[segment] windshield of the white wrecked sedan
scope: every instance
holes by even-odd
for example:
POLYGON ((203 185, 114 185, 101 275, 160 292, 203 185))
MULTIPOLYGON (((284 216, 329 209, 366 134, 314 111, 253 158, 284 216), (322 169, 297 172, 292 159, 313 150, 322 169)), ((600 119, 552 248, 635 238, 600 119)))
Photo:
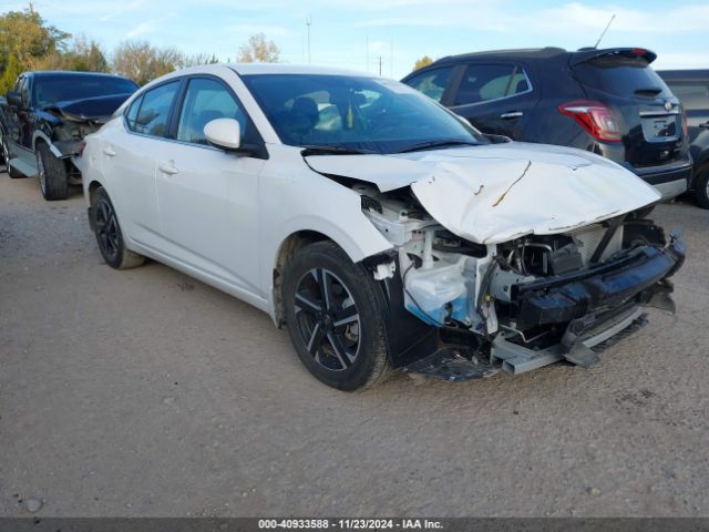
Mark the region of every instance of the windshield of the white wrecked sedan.
POLYGON ((281 142, 291 146, 397 153, 486 143, 462 119, 397 81, 314 74, 243 80, 281 142))

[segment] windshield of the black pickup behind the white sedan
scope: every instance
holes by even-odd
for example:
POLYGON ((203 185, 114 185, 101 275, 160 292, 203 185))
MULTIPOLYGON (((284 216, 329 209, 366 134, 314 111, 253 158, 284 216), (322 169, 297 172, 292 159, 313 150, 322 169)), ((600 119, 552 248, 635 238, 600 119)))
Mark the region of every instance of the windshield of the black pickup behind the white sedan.
POLYGON ((37 78, 34 98, 39 106, 88 98, 132 94, 137 85, 112 75, 52 75, 37 78))

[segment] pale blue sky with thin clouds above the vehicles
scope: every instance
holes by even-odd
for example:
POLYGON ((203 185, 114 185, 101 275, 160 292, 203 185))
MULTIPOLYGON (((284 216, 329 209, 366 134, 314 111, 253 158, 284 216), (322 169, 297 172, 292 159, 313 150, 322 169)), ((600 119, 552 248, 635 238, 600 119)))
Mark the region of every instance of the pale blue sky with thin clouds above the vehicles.
MULTIPOLYGON (((649 48, 656 68, 709 68, 709 2, 620 3, 538 0, 37 0, 54 25, 83 33, 111 50, 123 40, 148 40, 188 53, 237 54, 264 32, 289 63, 311 61, 401 78, 417 58, 501 48, 593 45, 612 14, 603 45, 649 48)), ((0 11, 22 9, 0 0, 0 11)))

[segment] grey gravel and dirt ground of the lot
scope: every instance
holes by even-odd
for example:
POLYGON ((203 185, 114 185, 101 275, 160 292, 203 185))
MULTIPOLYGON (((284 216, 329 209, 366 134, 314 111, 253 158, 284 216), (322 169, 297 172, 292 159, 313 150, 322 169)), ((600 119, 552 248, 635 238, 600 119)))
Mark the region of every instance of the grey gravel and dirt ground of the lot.
POLYGON ((348 395, 265 314, 105 266, 79 191, 0 174, 0 513, 709 515, 709 212, 655 217, 679 311, 599 365, 348 395))

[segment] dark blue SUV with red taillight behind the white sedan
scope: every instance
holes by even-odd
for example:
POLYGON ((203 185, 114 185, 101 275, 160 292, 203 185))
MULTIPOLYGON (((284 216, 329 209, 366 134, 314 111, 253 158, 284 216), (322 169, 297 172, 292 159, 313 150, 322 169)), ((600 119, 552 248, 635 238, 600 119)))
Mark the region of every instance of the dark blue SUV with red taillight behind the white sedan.
POLYGON ((402 81, 485 133, 604 155, 655 185, 687 190, 681 105, 637 48, 504 50, 443 58, 402 81))

